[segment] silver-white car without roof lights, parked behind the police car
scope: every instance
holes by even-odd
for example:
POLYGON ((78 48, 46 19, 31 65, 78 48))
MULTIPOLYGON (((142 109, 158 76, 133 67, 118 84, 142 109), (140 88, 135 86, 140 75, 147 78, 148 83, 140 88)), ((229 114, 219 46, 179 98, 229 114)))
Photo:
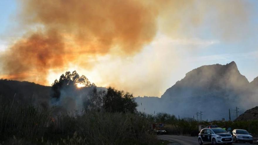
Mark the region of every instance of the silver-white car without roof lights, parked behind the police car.
POLYGON ((235 142, 242 141, 242 142, 249 142, 250 144, 253 143, 253 137, 249 132, 243 129, 234 129, 233 131, 233 139, 235 142))

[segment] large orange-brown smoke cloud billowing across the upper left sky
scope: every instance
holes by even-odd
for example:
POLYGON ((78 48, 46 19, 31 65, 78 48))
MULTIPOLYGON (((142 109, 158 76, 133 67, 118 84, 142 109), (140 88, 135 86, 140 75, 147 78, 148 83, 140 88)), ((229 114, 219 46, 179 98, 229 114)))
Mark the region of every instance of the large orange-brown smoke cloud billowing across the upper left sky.
POLYGON ((24 0, 20 4, 24 28, 40 25, 41 30, 28 33, 1 56, 7 78, 46 84, 48 70, 63 68, 81 54, 103 55, 112 47, 134 54, 156 34, 157 11, 139 1, 24 0))

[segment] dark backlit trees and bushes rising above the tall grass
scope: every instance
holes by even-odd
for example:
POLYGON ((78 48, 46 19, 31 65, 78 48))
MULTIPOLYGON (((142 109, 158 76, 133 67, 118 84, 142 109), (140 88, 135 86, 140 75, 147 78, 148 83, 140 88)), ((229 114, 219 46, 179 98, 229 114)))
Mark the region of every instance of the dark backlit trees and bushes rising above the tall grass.
POLYGON ((52 98, 60 98, 62 95, 72 98, 82 98, 83 105, 86 111, 106 111, 106 112, 136 112, 137 103, 134 100, 133 94, 117 90, 112 87, 97 90, 94 83, 91 83, 86 76, 79 74, 76 71, 72 73, 67 71, 60 76, 59 80, 55 80, 51 88, 52 98), (85 87, 93 87, 91 92, 85 89, 77 89, 77 85, 85 87))

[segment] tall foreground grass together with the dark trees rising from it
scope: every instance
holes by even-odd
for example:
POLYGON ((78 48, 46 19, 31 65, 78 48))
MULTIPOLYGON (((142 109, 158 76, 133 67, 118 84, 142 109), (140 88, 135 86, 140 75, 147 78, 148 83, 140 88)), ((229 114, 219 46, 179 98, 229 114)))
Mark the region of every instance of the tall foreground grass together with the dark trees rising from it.
MULTIPOLYGON (((58 101, 62 92, 76 92, 78 83, 95 87, 76 71, 67 72, 53 83, 52 98, 58 101)), ((95 87, 82 99, 83 109, 73 112, 19 102, 15 95, 0 99, 1 145, 160 143, 149 132, 151 122, 146 115, 137 112, 133 95, 115 88, 97 91, 95 87)))

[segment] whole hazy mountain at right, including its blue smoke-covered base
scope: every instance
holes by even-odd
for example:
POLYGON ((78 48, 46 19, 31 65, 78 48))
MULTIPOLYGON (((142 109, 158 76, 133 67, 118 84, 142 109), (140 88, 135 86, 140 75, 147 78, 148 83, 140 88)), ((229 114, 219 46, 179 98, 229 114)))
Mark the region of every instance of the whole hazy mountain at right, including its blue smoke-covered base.
MULTIPOLYGON (((228 109, 231 109, 232 119, 235 119, 236 106, 240 108, 241 114, 258 105, 257 86, 253 85, 255 81, 249 83, 240 74, 235 62, 201 66, 188 72, 184 79, 168 88, 161 98, 153 101, 147 97, 136 100, 139 105, 143 103, 142 107, 147 113, 156 111, 196 117, 196 112, 202 111, 203 120, 220 120, 228 119, 228 109)), ((142 107, 138 109, 142 110, 142 107)))

